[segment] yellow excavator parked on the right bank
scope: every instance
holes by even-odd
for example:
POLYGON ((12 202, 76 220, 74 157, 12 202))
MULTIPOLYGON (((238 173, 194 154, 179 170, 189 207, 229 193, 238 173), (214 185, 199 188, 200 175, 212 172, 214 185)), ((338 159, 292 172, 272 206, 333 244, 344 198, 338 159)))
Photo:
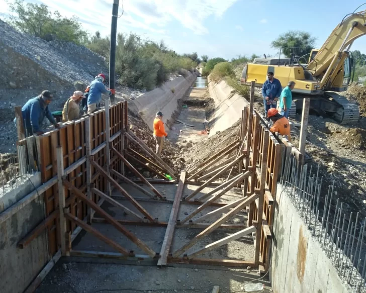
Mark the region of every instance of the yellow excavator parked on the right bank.
POLYGON ((291 56, 281 58, 281 48, 278 58, 255 58, 245 65, 240 83, 254 80, 256 86, 262 86, 267 72, 273 72, 283 87, 291 80, 296 82, 290 117, 302 108, 304 98, 310 98, 311 109, 325 112, 341 124, 355 124, 359 119, 358 106, 337 92, 347 90, 353 80, 354 63, 349 50, 354 40, 365 34, 366 10, 348 14, 320 49, 299 57, 299 49, 290 48, 291 56))

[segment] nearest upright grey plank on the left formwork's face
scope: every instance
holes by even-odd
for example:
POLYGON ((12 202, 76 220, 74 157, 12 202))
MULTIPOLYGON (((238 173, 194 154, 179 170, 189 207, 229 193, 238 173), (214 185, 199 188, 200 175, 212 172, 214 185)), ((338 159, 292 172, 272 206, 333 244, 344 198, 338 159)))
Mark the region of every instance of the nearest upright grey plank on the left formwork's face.
POLYGON ((64 217, 63 210, 65 208, 65 188, 62 184, 63 177, 63 153, 62 146, 57 147, 57 177, 58 177, 58 208, 60 217, 60 239, 61 239, 61 253, 67 255, 66 251, 66 219, 64 217))

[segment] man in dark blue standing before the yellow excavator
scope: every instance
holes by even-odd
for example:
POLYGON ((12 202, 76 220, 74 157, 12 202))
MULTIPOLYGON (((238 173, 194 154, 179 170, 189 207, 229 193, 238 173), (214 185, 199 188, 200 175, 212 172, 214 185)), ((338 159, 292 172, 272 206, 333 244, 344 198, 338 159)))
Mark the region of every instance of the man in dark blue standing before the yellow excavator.
POLYGON ((264 104, 264 116, 267 115, 267 111, 271 108, 277 107, 277 100, 281 95, 282 86, 280 80, 274 78, 273 72, 267 73, 267 80, 264 81, 262 86, 263 104, 264 104))

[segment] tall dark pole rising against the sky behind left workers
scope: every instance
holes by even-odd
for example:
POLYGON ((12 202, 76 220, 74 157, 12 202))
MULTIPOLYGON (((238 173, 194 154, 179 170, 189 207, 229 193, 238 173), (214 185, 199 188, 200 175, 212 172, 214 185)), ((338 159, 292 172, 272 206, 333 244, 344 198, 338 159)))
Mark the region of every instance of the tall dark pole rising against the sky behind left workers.
MULTIPOLYGON (((118 20, 118 6, 120 1, 113 0, 112 9, 112 25, 111 25, 111 48, 109 54, 109 88, 116 88, 116 40, 117 40, 117 20, 118 20)), ((115 95, 111 95, 111 101, 114 101, 115 95)))

